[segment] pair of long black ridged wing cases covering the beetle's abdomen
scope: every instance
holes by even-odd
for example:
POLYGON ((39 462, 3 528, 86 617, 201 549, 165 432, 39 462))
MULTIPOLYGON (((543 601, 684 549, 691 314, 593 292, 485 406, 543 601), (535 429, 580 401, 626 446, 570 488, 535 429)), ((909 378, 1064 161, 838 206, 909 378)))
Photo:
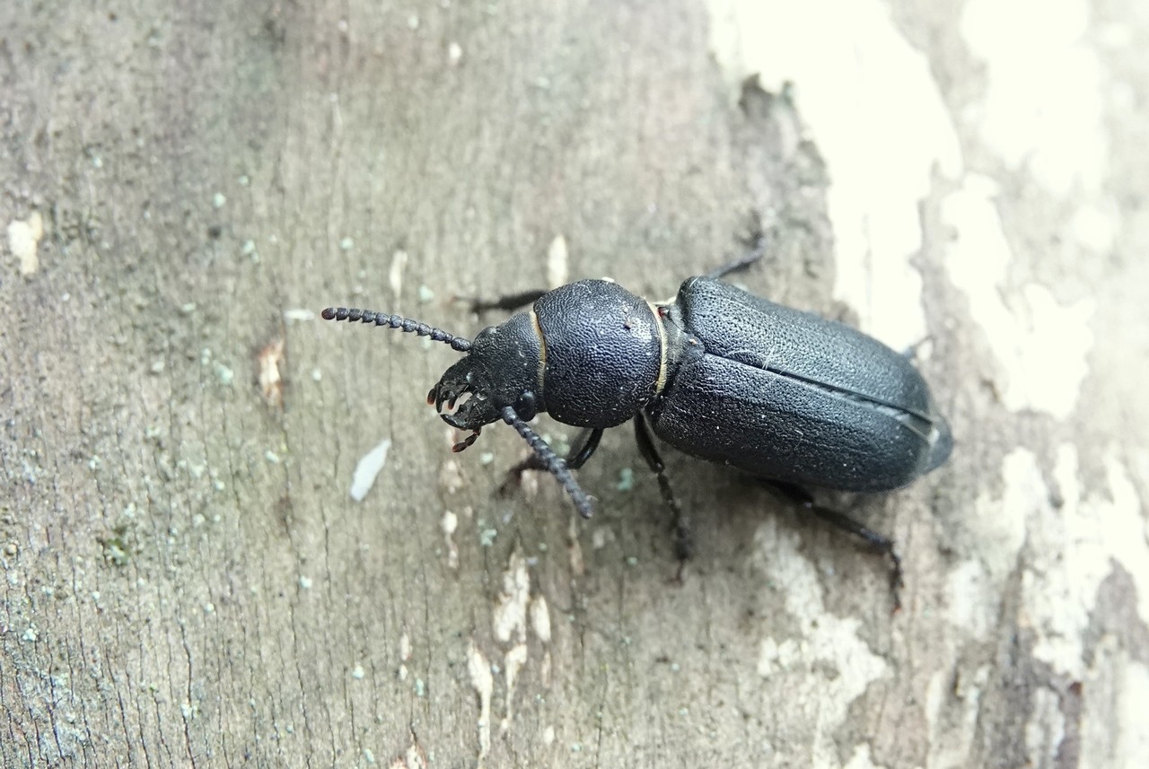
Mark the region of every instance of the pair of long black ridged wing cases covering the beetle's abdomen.
POLYGON ((753 475, 885 491, 949 455, 921 375, 877 340, 709 278, 683 283, 668 323, 683 351, 651 427, 753 475))

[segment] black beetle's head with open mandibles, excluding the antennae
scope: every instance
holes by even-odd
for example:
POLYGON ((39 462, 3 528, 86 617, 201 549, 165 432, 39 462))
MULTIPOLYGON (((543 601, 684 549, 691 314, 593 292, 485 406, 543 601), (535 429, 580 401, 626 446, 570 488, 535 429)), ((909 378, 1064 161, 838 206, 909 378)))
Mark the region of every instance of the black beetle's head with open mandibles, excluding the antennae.
POLYGON ((464 430, 478 430, 501 419, 506 406, 515 409, 524 420, 534 419, 540 410, 534 395, 540 356, 534 321, 527 313, 516 314, 475 337, 466 357, 431 388, 427 404, 448 425, 464 430), (470 397, 455 409, 464 395, 470 397))

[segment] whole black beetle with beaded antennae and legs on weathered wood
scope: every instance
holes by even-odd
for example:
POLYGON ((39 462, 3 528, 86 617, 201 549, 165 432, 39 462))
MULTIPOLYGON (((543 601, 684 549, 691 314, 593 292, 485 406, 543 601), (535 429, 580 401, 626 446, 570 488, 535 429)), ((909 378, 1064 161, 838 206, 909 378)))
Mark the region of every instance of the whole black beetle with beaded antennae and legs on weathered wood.
POLYGON ((635 438, 674 513, 677 552, 688 557, 688 522, 671 492, 651 432, 688 455, 732 465, 893 560, 893 542, 816 505, 807 487, 888 491, 946 461, 953 436, 910 360, 849 326, 748 294, 720 278, 762 256, 689 278, 668 303, 607 280, 526 292, 475 309, 531 304, 475 341, 399 316, 327 308, 327 320, 360 320, 444 342, 466 356, 431 388, 427 403, 471 435, 500 419, 533 455, 512 468, 553 474, 584 518, 591 499, 571 469, 602 432, 634 421, 635 438), (455 409, 456 402, 469 395, 455 409), (444 411, 446 407, 446 412, 444 411), (527 426, 535 414, 583 428, 564 459, 527 426))

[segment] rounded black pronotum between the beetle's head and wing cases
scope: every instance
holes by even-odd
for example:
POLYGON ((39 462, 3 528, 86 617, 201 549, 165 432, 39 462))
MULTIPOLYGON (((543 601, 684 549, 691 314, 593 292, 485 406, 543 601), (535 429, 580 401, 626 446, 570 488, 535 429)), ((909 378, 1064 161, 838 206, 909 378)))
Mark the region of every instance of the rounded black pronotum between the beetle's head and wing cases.
POLYGON ((534 312, 552 417, 576 427, 616 427, 654 397, 662 329, 645 300, 607 280, 580 280, 545 294, 534 312))

